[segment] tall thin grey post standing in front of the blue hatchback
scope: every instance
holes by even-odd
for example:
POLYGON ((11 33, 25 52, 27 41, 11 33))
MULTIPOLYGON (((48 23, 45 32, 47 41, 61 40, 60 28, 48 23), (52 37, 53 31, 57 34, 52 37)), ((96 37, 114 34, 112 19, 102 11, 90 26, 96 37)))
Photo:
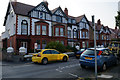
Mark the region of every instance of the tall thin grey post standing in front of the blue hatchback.
POLYGON ((94 15, 92 16, 92 26, 94 27, 95 79, 97 80, 96 29, 95 29, 95 20, 94 20, 94 15))

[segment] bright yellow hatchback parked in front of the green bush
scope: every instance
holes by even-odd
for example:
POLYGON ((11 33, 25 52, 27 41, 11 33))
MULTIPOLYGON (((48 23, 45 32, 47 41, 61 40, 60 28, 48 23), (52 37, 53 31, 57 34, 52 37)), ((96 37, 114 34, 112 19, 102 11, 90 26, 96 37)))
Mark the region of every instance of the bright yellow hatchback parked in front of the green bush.
POLYGON ((33 54, 32 62, 47 64, 48 61, 64 61, 69 59, 67 54, 62 54, 55 49, 42 49, 37 54, 33 54))

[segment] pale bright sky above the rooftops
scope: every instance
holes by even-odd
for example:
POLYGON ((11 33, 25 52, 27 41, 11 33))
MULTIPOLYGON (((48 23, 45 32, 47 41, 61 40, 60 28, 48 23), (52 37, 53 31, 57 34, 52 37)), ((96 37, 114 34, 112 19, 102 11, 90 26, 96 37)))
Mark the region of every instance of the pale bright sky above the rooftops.
MULTIPOLYGON (((17 0, 17 2, 37 6, 43 0, 17 0)), ((101 20, 101 24, 110 28, 115 28, 115 16, 117 16, 118 2, 120 0, 47 0, 49 9, 52 10, 58 6, 68 8, 68 14, 71 16, 80 16, 85 14, 91 21, 91 16, 95 16, 95 21, 101 20)), ((7 11, 9 0, 0 0, 0 35, 5 31, 4 17, 7 11)))

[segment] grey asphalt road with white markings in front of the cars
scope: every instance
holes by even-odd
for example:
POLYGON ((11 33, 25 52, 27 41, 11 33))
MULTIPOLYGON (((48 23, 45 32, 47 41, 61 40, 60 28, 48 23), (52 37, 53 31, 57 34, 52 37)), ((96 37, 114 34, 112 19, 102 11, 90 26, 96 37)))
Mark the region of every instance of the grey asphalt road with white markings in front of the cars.
MULTIPOLYGON (((68 62, 51 62, 47 65, 27 63, 7 63, 2 65, 2 78, 94 78, 93 69, 82 69, 79 59, 71 57, 68 62)), ((119 78, 120 65, 99 72, 100 78, 119 78)))

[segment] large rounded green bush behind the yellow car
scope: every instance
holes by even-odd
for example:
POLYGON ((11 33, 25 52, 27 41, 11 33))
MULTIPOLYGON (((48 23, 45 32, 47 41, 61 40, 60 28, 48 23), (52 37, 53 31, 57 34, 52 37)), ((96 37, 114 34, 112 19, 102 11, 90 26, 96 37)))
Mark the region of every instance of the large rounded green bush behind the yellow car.
POLYGON ((46 47, 46 49, 56 49, 61 53, 64 53, 66 51, 65 46, 59 42, 49 42, 46 47))

